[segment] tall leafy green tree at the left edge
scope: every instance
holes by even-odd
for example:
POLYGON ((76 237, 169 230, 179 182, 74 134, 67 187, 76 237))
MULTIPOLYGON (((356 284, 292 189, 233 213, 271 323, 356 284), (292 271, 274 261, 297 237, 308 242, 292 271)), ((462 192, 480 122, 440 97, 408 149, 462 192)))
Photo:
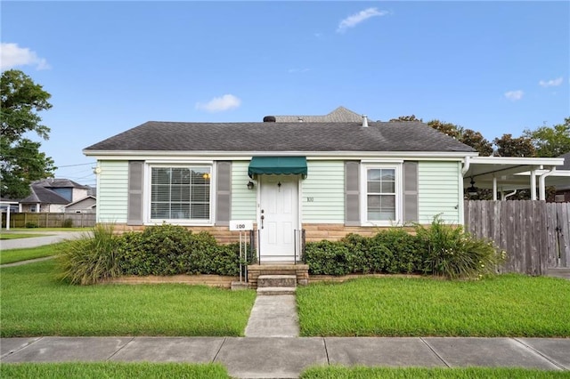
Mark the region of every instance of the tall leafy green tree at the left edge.
POLYGON ((50 129, 41 125, 37 112, 52 108, 51 95, 20 70, 10 69, 0 78, 0 196, 25 198, 29 184, 53 176, 53 159, 28 139, 37 133, 47 140, 50 129))

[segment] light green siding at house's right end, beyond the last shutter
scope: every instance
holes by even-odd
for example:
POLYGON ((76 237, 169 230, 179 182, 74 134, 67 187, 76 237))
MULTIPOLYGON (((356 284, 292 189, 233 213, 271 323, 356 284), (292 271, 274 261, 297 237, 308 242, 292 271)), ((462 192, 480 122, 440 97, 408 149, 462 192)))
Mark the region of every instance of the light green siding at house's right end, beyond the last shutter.
POLYGON ((437 214, 444 222, 460 223, 460 170, 460 162, 419 162, 419 223, 430 223, 437 214))

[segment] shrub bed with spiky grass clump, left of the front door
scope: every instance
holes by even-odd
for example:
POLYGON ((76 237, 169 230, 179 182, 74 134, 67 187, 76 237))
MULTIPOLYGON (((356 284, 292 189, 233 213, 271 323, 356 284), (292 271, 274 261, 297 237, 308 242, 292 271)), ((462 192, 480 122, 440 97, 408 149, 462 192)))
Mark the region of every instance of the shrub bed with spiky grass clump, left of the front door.
POLYGON ((207 232, 192 233, 170 224, 121 236, 113 234, 112 226, 99 224, 93 234, 70 241, 60 262, 63 278, 81 285, 121 275, 236 276, 240 273, 240 246, 220 245, 207 232))

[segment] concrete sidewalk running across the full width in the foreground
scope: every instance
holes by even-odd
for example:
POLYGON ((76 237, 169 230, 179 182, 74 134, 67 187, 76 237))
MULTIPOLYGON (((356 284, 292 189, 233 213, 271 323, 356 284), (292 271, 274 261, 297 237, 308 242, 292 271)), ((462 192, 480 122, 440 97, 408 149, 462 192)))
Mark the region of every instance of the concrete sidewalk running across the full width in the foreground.
POLYGON ((570 370, 570 338, 38 337, 0 339, 0 361, 217 362, 238 378, 314 365, 570 370))

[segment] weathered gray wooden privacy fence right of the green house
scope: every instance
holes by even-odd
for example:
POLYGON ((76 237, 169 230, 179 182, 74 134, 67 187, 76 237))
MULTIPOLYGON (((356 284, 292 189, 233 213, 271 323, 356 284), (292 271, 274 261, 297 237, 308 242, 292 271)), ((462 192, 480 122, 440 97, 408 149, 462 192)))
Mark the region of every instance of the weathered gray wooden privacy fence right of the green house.
POLYGON ((543 275, 570 268, 570 203, 468 200, 464 220, 469 233, 507 252, 501 271, 543 275))

